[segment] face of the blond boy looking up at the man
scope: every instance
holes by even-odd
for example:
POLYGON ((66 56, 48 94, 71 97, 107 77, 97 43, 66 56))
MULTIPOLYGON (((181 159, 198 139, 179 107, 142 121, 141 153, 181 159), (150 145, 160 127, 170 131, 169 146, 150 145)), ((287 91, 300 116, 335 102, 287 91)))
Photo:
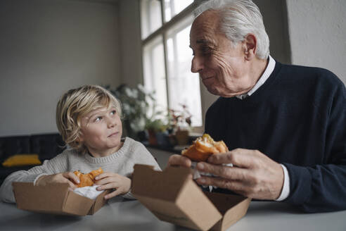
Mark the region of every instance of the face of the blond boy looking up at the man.
POLYGON ((99 108, 81 118, 82 142, 94 157, 108 156, 122 146, 122 122, 115 107, 99 108))

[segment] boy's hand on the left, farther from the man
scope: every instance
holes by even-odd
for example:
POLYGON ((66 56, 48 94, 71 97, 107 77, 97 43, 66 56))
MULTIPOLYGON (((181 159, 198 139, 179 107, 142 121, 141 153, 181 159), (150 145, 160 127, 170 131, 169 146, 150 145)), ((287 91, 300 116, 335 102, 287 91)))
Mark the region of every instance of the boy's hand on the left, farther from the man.
POLYGON ((68 185, 70 185, 70 189, 75 189, 76 185, 73 182, 79 184, 79 178, 77 175, 72 172, 65 172, 54 175, 42 175, 36 181, 36 185, 44 186, 51 183, 68 183, 68 185))

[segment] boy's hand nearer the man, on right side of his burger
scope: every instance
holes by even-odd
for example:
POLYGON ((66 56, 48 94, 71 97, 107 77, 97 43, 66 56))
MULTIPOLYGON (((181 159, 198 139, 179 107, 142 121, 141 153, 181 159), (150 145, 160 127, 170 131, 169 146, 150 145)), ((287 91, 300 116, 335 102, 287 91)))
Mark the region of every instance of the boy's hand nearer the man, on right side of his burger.
POLYGON ((131 188, 131 180, 117 173, 101 173, 95 177, 95 180, 95 185, 101 185, 97 187, 97 190, 115 189, 115 191, 105 195, 105 199, 126 194, 131 188))

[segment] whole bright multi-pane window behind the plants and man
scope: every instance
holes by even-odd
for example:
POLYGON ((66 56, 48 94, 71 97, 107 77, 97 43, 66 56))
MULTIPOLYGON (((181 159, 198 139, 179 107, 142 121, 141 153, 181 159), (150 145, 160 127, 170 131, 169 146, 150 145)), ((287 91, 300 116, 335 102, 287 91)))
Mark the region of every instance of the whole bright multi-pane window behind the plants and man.
POLYGON ((193 0, 141 0, 143 77, 158 105, 174 110, 186 105, 192 126, 201 127, 200 80, 191 73, 188 48, 195 7, 193 0))

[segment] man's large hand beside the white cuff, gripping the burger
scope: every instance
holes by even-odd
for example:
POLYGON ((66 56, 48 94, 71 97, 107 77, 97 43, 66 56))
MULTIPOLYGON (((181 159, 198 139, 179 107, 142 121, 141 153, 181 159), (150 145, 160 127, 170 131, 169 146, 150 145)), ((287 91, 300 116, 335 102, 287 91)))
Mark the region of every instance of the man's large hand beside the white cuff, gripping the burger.
POLYGON ((208 163, 200 162, 200 172, 217 177, 200 177, 200 185, 229 189, 253 199, 278 199, 283 187, 283 169, 279 163, 257 150, 234 149, 225 154, 212 155, 208 163), (233 167, 222 166, 232 163, 233 167))

